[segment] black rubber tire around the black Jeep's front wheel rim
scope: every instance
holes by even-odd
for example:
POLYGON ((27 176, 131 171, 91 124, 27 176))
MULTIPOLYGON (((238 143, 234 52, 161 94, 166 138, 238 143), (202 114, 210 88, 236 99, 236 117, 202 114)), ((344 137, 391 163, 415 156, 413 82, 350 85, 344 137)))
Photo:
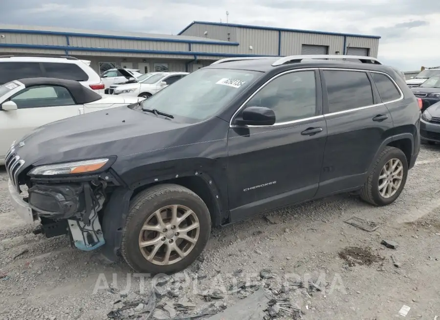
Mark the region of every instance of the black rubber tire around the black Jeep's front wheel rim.
POLYGON ((177 185, 155 185, 137 194, 131 201, 122 233, 121 254, 127 264, 139 273, 173 274, 182 271, 196 260, 205 248, 211 233, 211 216, 205 203, 193 191, 177 185), (198 240, 189 254, 170 265, 156 265, 144 258, 139 249, 139 233, 154 211, 169 205, 187 206, 197 215, 200 224, 198 240))

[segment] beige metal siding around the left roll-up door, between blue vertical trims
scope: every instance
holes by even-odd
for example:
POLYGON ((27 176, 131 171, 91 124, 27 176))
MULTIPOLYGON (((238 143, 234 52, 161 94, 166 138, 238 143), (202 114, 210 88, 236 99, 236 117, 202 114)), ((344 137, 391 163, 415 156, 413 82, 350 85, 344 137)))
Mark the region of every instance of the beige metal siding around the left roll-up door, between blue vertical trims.
POLYGON ((329 54, 334 54, 336 51, 342 54, 344 37, 316 33, 281 32, 281 55, 301 54, 302 45, 328 46, 329 54))

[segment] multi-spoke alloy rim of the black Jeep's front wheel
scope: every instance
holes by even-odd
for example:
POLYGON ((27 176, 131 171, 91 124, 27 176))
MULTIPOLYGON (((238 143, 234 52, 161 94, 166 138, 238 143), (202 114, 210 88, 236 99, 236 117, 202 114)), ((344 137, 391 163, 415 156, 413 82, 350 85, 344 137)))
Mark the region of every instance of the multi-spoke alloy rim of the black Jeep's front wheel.
POLYGON ((155 265, 171 265, 185 258, 200 234, 196 213, 186 206, 164 206, 154 212, 139 233, 139 249, 155 265))

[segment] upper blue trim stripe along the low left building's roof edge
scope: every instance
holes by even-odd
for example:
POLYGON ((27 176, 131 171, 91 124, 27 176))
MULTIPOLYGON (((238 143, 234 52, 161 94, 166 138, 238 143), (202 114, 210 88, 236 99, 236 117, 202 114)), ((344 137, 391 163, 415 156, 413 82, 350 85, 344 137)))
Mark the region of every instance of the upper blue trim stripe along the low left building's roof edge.
POLYGON ((3 33, 24 33, 24 34, 44 34, 66 37, 85 37, 85 38, 101 38, 101 39, 121 39, 134 41, 154 41, 154 42, 177 42, 184 44, 202 44, 202 45, 218 45, 218 46, 238 46, 238 42, 220 42, 220 41, 202 41, 202 40, 185 40, 185 39, 167 39, 167 38, 148 38, 148 37, 130 37, 130 36, 112 36, 107 34, 92 33, 75 33, 75 32, 59 32, 44 30, 21 30, 21 29, 0 29, 3 33))

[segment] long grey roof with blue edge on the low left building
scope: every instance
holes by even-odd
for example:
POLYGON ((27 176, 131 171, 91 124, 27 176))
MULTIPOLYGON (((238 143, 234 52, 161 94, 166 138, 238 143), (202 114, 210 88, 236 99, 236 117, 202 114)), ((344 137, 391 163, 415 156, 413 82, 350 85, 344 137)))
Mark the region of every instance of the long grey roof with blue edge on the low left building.
POLYGON ((161 42, 180 42, 180 43, 196 43, 196 44, 198 43, 198 44, 206 44, 206 45, 227 45, 227 46, 239 45, 237 42, 229 42, 229 41, 194 37, 194 36, 154 34, 154 33, 144 33, 144 32, 86 30, 86 29, 51 27, 51 26, 30 26, 30 25, 15 25, 15 24, 0 24, 0 32, 60 35, 60 36, 104 38, 104 39, 139 40, 139 41, 161 41, 161 42))

